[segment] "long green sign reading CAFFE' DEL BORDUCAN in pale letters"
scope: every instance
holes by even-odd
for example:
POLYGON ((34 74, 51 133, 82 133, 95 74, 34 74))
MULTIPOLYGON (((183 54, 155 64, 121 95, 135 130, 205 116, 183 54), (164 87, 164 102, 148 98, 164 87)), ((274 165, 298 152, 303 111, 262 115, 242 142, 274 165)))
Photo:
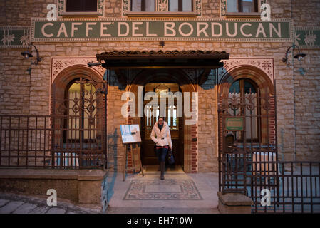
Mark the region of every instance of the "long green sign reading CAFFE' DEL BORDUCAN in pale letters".
POLYGON ((31 41, 292 41, 291 20, 31 19, 31 41))

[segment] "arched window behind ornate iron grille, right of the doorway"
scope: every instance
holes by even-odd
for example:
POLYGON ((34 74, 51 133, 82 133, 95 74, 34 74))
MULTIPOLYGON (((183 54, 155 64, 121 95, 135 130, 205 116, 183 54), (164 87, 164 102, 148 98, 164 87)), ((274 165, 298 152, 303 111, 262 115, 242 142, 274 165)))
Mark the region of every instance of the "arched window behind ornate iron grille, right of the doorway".
POLYGON ((238 142, 261 142, 259 88, 249 78, 234 81, 229 88, 229 98, 234 100, 234 105, 229 108, 229 113, 234 116, 244 117, 245 135, 239 131, 234 135, 238 142))

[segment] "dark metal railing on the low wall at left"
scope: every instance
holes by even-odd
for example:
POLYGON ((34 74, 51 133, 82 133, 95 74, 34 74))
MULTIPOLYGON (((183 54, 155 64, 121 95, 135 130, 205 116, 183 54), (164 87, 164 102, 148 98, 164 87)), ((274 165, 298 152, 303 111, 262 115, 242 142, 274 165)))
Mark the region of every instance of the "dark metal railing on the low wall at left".
POLYGON ((104 168, 103 118, 0 115, 0 167, 104 168), (90 122, 86 128, 73 123, 90 122))

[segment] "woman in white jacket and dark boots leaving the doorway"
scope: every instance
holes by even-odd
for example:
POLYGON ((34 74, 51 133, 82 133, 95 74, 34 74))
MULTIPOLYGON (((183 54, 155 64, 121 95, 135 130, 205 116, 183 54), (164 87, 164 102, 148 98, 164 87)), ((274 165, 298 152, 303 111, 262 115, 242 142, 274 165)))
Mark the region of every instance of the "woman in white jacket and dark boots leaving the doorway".
POLYGON ((151 132, 151 139, 155 142, 156 154, 160 162, 161 180, 165 179, 165 157, 167 151, 172 149, 172 140, 170 135, 170 128, 167 122, 162 117, 158 118, 158 121, 153 125, 151 132), (156 136, 156 138, 155 138, 156 136))

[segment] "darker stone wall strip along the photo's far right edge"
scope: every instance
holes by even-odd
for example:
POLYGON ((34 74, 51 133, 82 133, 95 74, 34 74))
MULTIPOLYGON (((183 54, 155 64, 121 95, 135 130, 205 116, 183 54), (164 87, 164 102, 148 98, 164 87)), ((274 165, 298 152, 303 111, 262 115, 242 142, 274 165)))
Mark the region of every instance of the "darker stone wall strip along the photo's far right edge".
MULTIPOLYGON (((320 2, 292 1, 294 26, 320 26, 320 2)), ((296 160, 320 160, 320 50, 301 49, 306 57, 291 66, 294 75, 296 160), (299 68, 306 70, 301 75, 299 68)))

